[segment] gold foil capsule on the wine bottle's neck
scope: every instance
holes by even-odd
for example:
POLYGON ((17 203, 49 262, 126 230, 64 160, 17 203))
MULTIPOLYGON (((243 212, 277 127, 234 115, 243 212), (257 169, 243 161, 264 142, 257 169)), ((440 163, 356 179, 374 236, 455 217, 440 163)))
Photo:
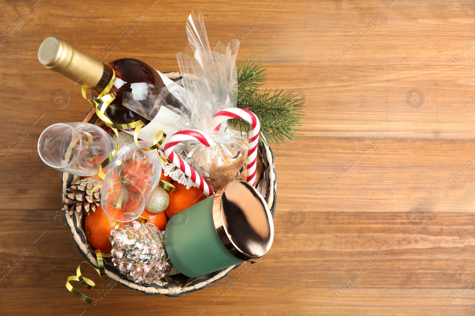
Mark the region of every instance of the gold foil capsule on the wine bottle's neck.
POLYGON ((41 43, 38 60, 87 88, 94 87, 104 72, 103 63, 57 37, 48 37, 41 43))

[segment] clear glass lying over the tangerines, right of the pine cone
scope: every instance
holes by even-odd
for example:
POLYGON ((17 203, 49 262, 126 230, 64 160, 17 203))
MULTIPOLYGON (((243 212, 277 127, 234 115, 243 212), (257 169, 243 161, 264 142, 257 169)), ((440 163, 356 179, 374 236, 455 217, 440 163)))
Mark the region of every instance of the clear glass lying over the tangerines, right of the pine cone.
MULTIPOLYGON (((140 141, 141 146, 149 145, 140 141)), ((143 150, 135 143, 123 146, 107 167, 101 206, 108 217, 130 222, 139 217, 157 190, 161 162, 155 150, 143 150)))

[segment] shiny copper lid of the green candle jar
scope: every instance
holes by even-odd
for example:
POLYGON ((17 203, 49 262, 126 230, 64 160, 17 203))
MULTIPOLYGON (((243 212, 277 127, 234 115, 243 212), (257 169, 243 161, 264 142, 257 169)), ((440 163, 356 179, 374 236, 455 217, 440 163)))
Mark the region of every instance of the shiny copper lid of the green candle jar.
POLYGON ((213 220, 221 242, 241 260, 267 253, 274 239, 274 223, 266 200, 244 181, 229 182, 213 202, 213 220))

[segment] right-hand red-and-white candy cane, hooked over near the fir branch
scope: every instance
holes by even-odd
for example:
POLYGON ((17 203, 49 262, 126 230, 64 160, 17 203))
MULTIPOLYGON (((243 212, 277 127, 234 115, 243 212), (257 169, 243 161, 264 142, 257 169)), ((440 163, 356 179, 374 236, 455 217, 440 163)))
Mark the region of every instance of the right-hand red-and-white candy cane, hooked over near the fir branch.
POLYGON ((259 133, 261 124, 256 114, 244 108, 228 108, 219 111, 213 117, 213 129, 218 131, 221 123, 230 118, 241 118, 251 125, 249 131, 249 143, 247 145, 247 183, 255 186, 256 184, 256 160, 257 160, 257 145, 259 143, 259 133))

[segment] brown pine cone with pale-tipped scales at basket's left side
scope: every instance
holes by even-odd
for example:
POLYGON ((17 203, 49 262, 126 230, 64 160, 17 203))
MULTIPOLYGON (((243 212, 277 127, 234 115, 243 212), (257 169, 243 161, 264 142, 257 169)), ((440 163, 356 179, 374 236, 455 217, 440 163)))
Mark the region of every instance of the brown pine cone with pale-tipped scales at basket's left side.
POLYGON ((63 208, 62 210, 68 210, 69 216, 72 217, 74 212, 79 213, 79 219, 83 215, 83 211, 89 215, 89 211, 95 212, 100 203, 93 201, 101 200, 102 187, 94 191, 94 197, 91 194, 91 190, 101 185, 102 180, 94 177, 85 178, 74 183, 71 183, 71 188, 68 188, 66 193, 63 193, 63 202, 68 204, 69 208, 63 208))

